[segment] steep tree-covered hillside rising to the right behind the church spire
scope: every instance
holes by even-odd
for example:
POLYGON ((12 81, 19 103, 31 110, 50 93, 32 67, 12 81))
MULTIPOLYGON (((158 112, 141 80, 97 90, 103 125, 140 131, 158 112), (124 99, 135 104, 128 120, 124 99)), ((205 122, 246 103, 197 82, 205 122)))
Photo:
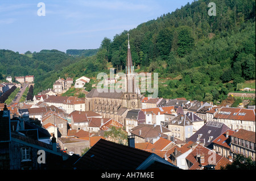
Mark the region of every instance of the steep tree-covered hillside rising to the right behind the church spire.
MULTIPOLYGON (((159 84, 160 97, 221 101, 237 83, 255 79, 255 1, 214 1, 216 16, 208 15, 209 2, 188 3, 129 31, 137 72, 181 78, 159 84)), ((101 45, 118 70, 125 69, 127 32, 101 45)))

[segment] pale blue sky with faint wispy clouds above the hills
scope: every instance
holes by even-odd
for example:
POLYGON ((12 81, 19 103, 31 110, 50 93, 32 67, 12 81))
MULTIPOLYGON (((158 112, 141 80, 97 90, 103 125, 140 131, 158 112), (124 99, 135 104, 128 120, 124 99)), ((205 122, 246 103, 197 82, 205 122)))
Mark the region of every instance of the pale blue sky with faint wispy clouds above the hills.
POLYGON ((0 49, 94 49, 192 0, 0 0, 0 49), (38 3, 46 15, 38 16, 38 3))

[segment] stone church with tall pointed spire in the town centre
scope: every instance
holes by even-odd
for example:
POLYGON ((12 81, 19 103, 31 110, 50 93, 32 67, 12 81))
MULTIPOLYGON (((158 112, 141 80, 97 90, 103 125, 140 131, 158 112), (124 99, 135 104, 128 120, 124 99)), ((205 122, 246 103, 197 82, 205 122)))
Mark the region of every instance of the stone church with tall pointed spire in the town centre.
POLYGON ((135 85, 135 73, 128 34, 125 89, 121 92, 116 90, 114 92, 102 92, 92 89, 85 97, 85 110, 100 113, 104 118, 113 118, 125 125, 127 112, 141 108, 140 96, 139 89, 135 85))

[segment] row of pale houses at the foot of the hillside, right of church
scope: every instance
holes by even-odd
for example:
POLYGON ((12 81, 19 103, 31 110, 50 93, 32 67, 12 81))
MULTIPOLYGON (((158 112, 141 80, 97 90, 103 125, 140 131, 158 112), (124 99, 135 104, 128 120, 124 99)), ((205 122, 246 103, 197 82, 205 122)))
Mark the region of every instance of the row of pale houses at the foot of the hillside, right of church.
POLYGON ((144 108, 160 108, 168 106, 181 107, 183 113, 191 112, 204 120, 225 123, 230 129, 245 129, 255 132, 255 108, 235 108, 213 106, 213 103, 188 101, 180 99, 144 98, 142 99, 142 110, 144 108), (151 101, 150 101, 151 100, 151 101), (149 103, 147 103, 149 101, 149 103), (152 103, 154 102, 154 103, 152 103))

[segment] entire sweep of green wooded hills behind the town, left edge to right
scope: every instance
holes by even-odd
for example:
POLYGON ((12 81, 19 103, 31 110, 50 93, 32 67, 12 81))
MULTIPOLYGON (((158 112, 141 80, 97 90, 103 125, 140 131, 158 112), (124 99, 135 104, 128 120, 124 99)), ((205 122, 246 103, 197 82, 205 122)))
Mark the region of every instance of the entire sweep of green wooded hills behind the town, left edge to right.
POLYGON ((57 50, 28 57, 0 50, 0 78, 34 74, 37 94, 59 77, 96 77, 109 66, 124 71, 129 32, 135 71, 159 73, 159 97, 224 100, 238 83, 255 79, 255 1, 215 0, 216 16, 208 15, 209 2, 188 3, 113 40, 105 37, 91 57, 57 50))

